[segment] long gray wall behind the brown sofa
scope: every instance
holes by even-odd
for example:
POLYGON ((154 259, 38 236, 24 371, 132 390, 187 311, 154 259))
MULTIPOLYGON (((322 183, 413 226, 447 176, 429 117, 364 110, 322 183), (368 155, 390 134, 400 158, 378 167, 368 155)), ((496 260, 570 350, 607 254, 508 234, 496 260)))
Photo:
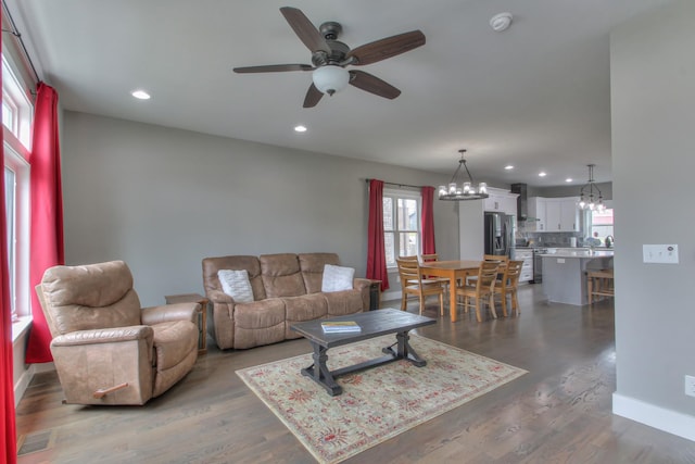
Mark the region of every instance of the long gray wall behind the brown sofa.
MULTIPOLYGON (((331 251, 364 276, 365 179, 447 180, 75 112, 62 158, 67 264, 126 261, 143 305, 202 292, 205 256, 331 251)), ((456 205, 434 200, 434 223, 438 252, 456 259, 456 205)))

